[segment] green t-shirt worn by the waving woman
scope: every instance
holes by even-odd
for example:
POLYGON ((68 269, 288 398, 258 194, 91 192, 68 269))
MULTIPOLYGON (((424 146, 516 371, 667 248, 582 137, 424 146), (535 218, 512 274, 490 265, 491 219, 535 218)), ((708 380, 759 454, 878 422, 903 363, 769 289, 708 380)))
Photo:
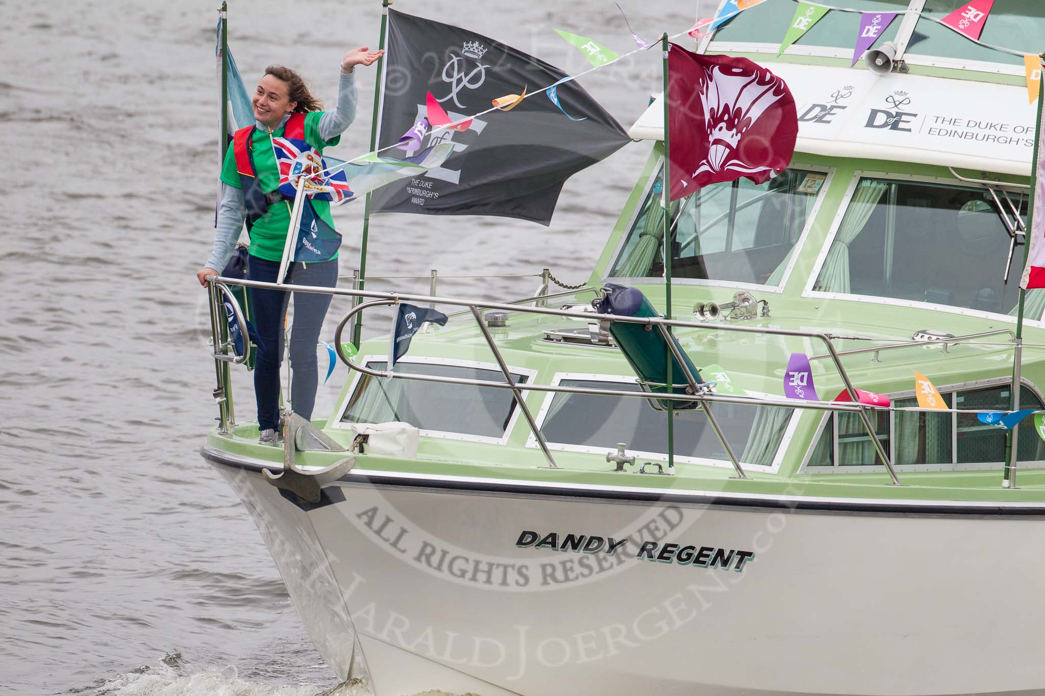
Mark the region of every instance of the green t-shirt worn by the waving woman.
MULTIPOLYGON (((305 114, 305 141, 314 145, 321 153, 324 147, 331 147, 338 144, 341 136, 334 136, 330 140, 324 141, 320 138, 320 118, 324 112, 311 112, 305 114)), ((283 126, 279 126, 272 131, 274 138, 283 135, 283 126)), ((262 191, 274 191, 279 186, 279 168, 276 166, 276 155, 272 151, 272 143, 269 134, 261 128, 254 129, 251 139, 251 149, 254 154, 254 168, 257 170, 258 184, 262 191)), ((225 153, 225 164, 222 166, 222 182, 237 189, 242 188, 239 183, 239 172, 236 170, 236 154, 233 148, 225 153)), ((317 214, 333 227, 333 218, 330 217, 330 201, 312 200, 317 214)), ((281 261, 283 259, 283 246, 286 244, 286 229, 291 224, 291 202, 286 200, 277 201, 269 206, 269 212, 262 215, 251 227, 251 256, 266 261, 281 261)), ((338 258, 335 254, 334 259, 338 258)))

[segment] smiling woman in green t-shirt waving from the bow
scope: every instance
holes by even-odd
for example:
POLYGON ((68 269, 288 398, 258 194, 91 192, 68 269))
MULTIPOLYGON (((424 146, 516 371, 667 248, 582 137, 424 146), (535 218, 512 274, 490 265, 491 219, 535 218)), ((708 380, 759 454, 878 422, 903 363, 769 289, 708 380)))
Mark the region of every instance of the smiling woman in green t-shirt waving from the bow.
MULTIPOLYGON (((276 282, 291 225, 291 202, 280 193, 281 170, 274 148, 279 143, 301 152, 315 151, 338 144, 341 134, 355 117, 355 82, 352 70, 369 66, 384 55, 356 48, 341 61, 341 86, 338 106, 320 111, 322 103, 308 91, 301 76, 283 66, 269 66, 251 98, 255 124, 236 131, 232 147, 226 151, 222 168, 222 201, 217 212, 217 234, 205 267, 196 273, 201 285, 208 275, 218 275, 232 257, 243 222, 251 237, 248 255, 250 279, 276 282)), ((330 217, 330 202, 310 197, 307 205, 316 221, 325 223, 336 236, 330 217)), ((295 231, 297 234, 297 231, 295 231)), ((340 238, 338 239, 340 243, 340 238)), ((334 247, 335 248, 335 247, 334 247)), ((316 263, 291 264, 284 282, 297 285, 333 287, 338 283, 338 255, 317 259, 316 263)), ((283 317, 289 294, 280 290, 254 289, 250 292, 251 317, 257 330, 258 345, 254 369, 254 395, 258 408, 261 441, 280 441, 279 366, 283 359, 283 317)), ((291 330, 289 358, 293 368, 291 406, 295 413, 311 418, 316 404, 319 373, 316 344, 330 295, 294 293, 294 327, 291 330)))

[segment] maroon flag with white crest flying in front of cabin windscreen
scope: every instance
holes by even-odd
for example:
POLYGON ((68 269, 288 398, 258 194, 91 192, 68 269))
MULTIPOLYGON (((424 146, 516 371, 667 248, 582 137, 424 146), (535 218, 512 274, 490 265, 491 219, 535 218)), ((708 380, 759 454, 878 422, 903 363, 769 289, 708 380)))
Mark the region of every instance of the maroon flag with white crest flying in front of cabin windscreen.
POLYGON ((787 169, 798 114, 784 80, 747 58, 668 53, 671 199, 746 176, 762 184, 787 169))

